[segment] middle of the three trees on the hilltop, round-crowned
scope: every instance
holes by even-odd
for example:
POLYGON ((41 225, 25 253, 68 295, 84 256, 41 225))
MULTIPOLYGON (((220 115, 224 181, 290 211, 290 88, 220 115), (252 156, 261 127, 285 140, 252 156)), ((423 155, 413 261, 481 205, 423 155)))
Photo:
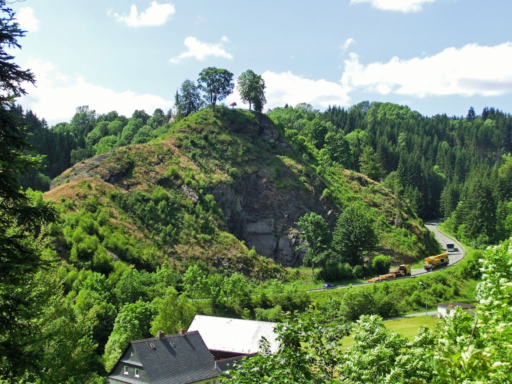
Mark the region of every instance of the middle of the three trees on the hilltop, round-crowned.
POLYGON ((233 92, 234 83, 232 83, 233 74, 227 69, 208 67, 199 73, 199 89, 206 93, 204 99, 212 105, 215 111, 217 101, 224 100, 233 92))

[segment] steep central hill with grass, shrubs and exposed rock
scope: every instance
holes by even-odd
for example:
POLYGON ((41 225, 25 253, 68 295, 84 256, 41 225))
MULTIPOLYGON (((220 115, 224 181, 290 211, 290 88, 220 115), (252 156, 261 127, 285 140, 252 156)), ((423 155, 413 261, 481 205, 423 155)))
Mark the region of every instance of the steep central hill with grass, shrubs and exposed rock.
POLYGON ((53 228, 58 253, 103 273, 117 260, 149 270, 164 262, 184 270, 200 261, 211 271, 278 276, 282 268, 257 254, 259 239, 279 243, 267 254, 279 261, 280 242, 292 236, 298 217, 316 210, 332 227, 354 201, 368 205, 380 251, 396 262, 434 252, 421 221, 390 190, 332 164, 319 166, 314 153, 250 111, 201 110, 152 142, 76 164, 52 186, 46 198, 62 204, 61 225, 53 228), (265 220, 274 223, 270 234, 248 232, 265 220))

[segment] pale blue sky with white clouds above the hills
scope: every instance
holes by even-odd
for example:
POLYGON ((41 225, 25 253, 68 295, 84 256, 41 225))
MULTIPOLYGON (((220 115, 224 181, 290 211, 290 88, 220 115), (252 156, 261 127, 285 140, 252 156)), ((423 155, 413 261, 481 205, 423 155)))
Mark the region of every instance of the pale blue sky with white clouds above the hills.
MULTIPOLYGON (((10 2, 11 3, 11 2, 10 2)), ((360 101, 424 116, 512 113, 509 0, 13 0, 26 36, 18 99, 50 125, 78 106, 166 112, 206 67, 265 80, 265 109, 360 101)), ((223 102, 243 105, 236 89, 223 102)))

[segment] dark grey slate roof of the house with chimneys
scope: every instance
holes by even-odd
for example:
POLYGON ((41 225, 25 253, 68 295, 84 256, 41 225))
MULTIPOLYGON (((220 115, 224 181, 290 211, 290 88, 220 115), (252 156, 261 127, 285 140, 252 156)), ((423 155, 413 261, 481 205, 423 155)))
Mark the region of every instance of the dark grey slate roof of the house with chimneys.
POLYGON ((188 384, 221 374, 197 331, 135 340, 131 345, 151 384, 188 384))

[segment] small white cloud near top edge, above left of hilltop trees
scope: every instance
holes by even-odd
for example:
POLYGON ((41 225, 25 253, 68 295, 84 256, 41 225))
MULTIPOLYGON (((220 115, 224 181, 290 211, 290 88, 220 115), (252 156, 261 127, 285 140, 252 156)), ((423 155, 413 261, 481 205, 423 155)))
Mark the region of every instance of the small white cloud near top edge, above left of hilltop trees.
POLYGON ((129 27, 148 27, 164 25, 175 12, 174 5, 170 3, 158 4, 157 2, 151 2, 150 7, 140 14, 135 4, 130 7, 129 15, 120 15, 112 10, 107 14, 129 27))

